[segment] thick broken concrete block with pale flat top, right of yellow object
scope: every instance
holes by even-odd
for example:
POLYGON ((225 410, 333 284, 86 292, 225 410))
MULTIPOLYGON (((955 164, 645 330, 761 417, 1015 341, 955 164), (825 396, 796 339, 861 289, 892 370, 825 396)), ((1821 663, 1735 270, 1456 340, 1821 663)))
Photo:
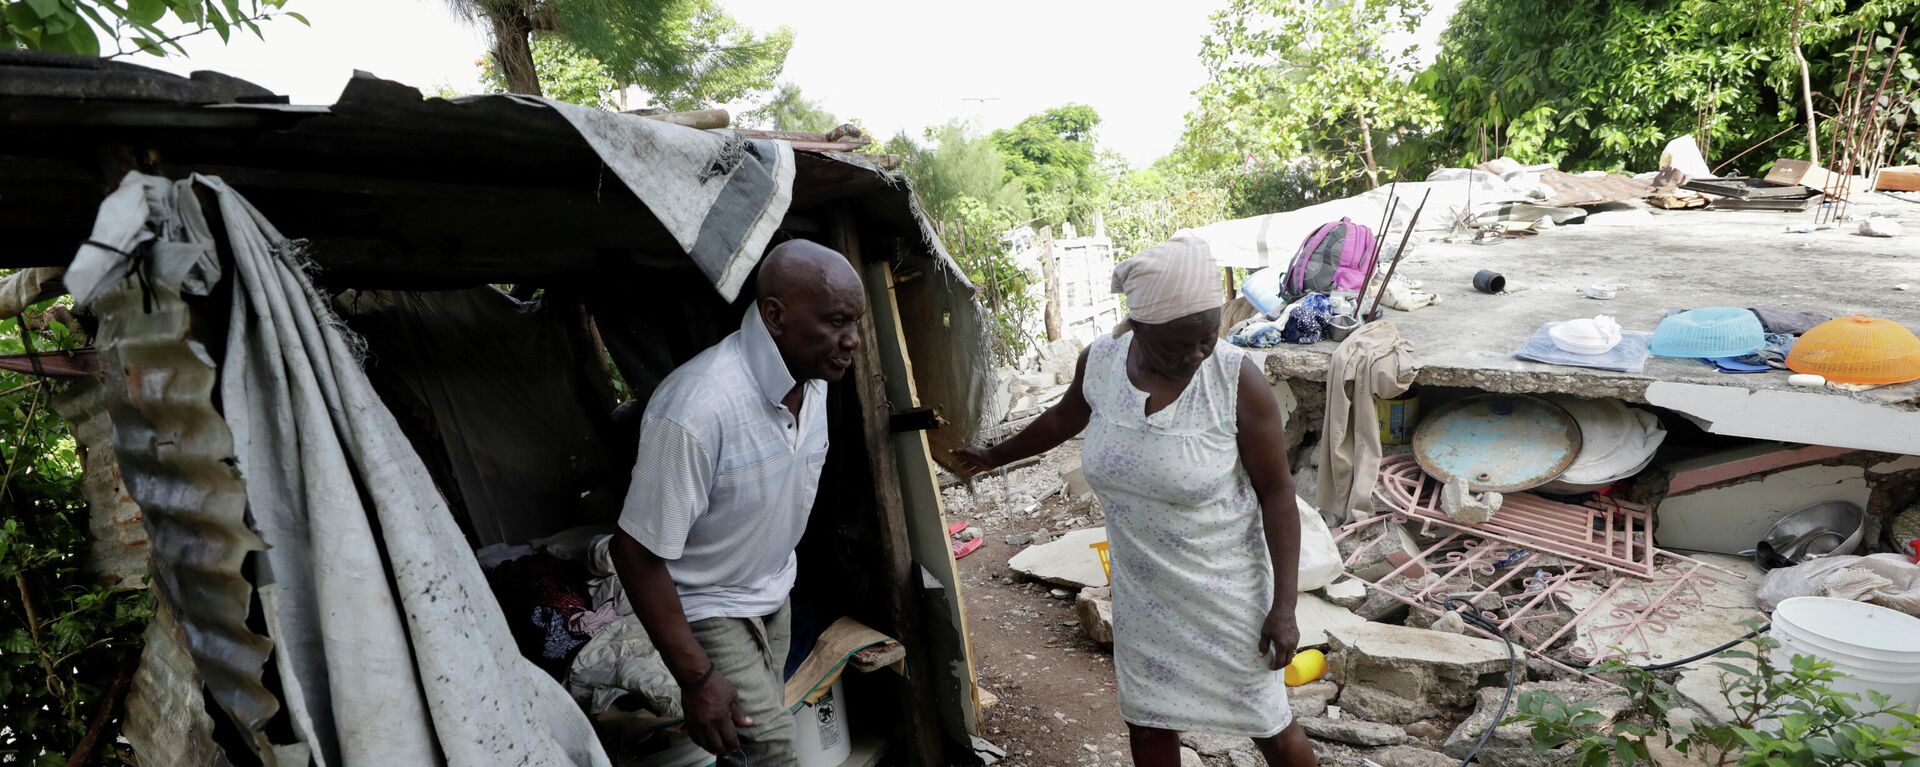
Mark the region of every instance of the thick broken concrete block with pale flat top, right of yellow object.
MULTIPOLYGON (((1334 679, 1346 688, 1340 705, 1359 717, 1380 719, 1354 705, 1356 688, 1392 692, 1392 698, 1423 707, 1453 707, 1473 702, 1473 690, 1500 684, 1507 671, 1507 648, 1501 642, 1442 634, 1436 631, 1363 623, 1329 631, 1334 657, 1334 679)), ((1377 704, 1379 700, 1367 700, 1377 704)), ((1365 705, 1365 704, 1363 704, 1365 705)), ((1394 705, 1398 717, 1405 717, 1394 705)), ((1394 721, 1405 725, 1417 719, 1394 721)))

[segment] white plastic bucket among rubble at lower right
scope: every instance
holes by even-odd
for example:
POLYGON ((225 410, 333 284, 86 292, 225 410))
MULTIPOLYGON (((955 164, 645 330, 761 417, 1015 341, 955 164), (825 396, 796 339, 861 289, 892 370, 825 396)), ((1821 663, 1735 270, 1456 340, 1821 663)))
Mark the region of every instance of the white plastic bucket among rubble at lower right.
MULTIPOLYGON (((1795 596, 1780 602, 1768 636, 1780 642, 1772 652, 1776 667, 1788 669, 1793 656, 1812 656, 1834 665, 1841 679, 1834 692, 1853 692, 1868 705, 1866 694, 1880 692, 1908 711, 1920 709, 1920 619, 1864 602, 1828 596, 1795 596)), ((1878 725, 1893 725, 1882 717, 1878 725)))

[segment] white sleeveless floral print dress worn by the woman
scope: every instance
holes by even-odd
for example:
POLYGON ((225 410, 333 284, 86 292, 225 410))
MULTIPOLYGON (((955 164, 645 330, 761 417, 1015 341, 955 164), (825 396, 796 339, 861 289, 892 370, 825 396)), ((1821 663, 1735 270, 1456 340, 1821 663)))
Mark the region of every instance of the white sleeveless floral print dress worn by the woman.
POLYGON ((1246 352, 1221 342, 1173 404, 1146 415, 1146 392, 1127 379, 1131 344, 1127 333, 1087 352, 1081 448, 1106 507, 1121 717, 1277 734, 1292 713, 1283 675, 1260 657, 1273 561, 1236 442, 1246 352))

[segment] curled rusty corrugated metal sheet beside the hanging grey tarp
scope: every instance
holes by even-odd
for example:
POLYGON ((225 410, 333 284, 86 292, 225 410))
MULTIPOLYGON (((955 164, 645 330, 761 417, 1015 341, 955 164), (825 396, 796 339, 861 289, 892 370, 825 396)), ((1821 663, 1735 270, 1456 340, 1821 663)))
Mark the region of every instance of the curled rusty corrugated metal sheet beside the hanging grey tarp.
MULTIPOLYGON (((157 271, 157 269, 156 269, 157 271)), ((234 719, 257 730, 278 711, 261 686, 273 644, 246 627, 252 586, 240 567, 265 550, 246 525, 232 433, 213 409, 217 373, 192 338, 177 285, 121 279, 94 300, 113 454, 127 494, 146 511, 154 586, 190 631, 186 652, 234 719)))

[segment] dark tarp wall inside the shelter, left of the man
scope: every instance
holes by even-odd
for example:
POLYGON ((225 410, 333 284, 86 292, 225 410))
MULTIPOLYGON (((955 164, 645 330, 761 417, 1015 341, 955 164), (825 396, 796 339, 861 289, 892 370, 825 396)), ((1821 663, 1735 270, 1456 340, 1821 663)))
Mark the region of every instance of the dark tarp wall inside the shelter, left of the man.
MULTIPOLYGON (((476 548, 599 521, 582 507, 593 482, 616 479, 624 496, 632 467, 609 467, 601 438, 612 388, 588 381, 599 361, 576 306, 492 286, 348 290, 334 306, 367 340, 382 392, 401 400, 390 408, 430 431, 415 448, 440 469, 476 548)), ((597 511, 612 519, 616 507, 597 511)))

